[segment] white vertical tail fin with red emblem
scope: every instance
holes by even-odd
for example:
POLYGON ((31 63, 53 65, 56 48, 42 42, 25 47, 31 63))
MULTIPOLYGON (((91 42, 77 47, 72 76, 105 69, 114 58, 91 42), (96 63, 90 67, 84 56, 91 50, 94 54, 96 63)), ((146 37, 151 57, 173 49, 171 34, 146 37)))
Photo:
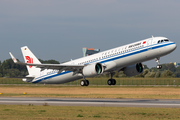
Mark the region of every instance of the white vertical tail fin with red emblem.
MULTIPOLYGON (((23 54, 23 58, 25 63, 34 63, 34 64, 41 64, 41 62, 36 58, 36 56, 31 52, 31 50, 27 47, 21 47, 21 51, 23 54)), ((35 66, 26 66, 30 76, 37 76, 40 75, 40 68, 36 68, 35 66)))

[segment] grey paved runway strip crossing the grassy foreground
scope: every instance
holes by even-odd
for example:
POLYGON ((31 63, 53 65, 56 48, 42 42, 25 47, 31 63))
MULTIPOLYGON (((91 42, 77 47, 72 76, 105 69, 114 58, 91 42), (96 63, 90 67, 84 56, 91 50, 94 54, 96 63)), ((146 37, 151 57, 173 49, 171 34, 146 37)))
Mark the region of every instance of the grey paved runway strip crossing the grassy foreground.
POLYGON ((92 99, 92 98, 23 98, 0 97, 6 105, 102 106, 102 107, 166 107, 180 108, 180 100, 162 99, 92 99))

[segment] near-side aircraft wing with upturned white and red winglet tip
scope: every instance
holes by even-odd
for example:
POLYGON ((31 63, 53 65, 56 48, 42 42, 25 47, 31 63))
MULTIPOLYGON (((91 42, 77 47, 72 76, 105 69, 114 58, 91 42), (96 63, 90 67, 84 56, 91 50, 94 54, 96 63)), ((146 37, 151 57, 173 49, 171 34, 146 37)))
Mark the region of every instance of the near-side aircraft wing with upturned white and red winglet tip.
POLYGON ((81 69, 84 67, 84 65, 22 63, 22 62, 18 62, 16 60, 16 58, 12 55, 12 53, 9 53, 9 54, 10 54, 12 60, 14 61, 14 63, 20 64, 20 65, 35 66, 37 68, 41 68, 41 70, 54 69, 54 70, 59 70, 59 73, 64 71, 64 70, 80 73, 81 69))

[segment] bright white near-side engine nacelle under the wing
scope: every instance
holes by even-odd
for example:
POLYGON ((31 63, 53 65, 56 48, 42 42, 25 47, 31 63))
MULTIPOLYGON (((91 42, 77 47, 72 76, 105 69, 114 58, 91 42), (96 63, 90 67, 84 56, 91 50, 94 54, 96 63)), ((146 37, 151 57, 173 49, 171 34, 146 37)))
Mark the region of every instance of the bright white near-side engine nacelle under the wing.
POLYGON ((104 71, 103 66, 100 63, 89 64, 84 66, 82 72, 85 77, 93 77, 102 74, 104 71))

